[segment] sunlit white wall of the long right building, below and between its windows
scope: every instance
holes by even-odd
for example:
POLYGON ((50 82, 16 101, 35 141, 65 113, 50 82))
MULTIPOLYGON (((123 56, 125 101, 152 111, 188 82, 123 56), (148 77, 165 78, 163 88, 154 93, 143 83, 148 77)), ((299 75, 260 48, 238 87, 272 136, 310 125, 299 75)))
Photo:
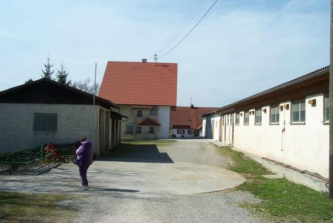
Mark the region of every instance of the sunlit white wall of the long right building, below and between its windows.
MULTIPOLYGON (((240 125, 235 126, 234 146, 249 153, 287 163, 300 169, 318 172, 328 177, 329 125, 323 123, 324 96, 305 98, 305 124, 293 125, 289 109, 280 111, 278 125, 270 125, 270 106, 264 106, 261 125, 254 125, 255 115, 249 116, 249 125, 243 125, 243 111, 240 125), (316 99, 316 106, 308 104, 316 99), (282 133, 285 120, 285 132, 282 133), (282 151, 281 151, 282 150, 282 151)), ((254 109, 254 108, 253 108, 254 109)), ((251 110, 250 110, 251 111, 251 110)))

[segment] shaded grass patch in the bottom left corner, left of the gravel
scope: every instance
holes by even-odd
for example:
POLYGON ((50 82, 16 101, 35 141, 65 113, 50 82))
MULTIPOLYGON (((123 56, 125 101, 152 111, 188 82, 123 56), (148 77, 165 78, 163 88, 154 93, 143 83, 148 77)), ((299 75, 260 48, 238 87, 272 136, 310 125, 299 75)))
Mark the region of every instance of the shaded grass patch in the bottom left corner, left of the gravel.
POLYGON ((0 222, 72 221, 77 209, 57 205, 73 197, 0 191, 0 222))

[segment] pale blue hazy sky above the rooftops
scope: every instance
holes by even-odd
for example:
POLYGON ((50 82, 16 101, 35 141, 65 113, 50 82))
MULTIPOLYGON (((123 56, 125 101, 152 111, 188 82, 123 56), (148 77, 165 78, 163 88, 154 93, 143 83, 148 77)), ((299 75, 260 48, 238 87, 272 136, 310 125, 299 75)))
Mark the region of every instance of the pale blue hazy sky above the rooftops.
MULTIPOLYGON (((93 80, 95 63, 100 83, 107 61, 153 62, 213 2, 0 0, 0 91, 41 78, 49 52, 73 81, 93 80)), ((329 48, 330 0, 218 0, 158 62, 178 64, 177 105, 222 107, 328 65, 329 48)))

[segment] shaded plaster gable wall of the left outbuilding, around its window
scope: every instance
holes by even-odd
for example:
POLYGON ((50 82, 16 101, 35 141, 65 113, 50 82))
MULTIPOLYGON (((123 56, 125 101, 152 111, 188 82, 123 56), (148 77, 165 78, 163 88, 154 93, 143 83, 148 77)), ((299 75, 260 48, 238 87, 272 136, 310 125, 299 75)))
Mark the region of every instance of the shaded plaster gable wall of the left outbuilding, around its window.
MULTIPOLYGON (((95 151, 98 113, 96 106, 95 151)), ((0 154, 48 142, 75 143, 83 136, 92 140, 92 105, 0 103, 0 154), (34 112, 58 113, 57 130, 33 130, 34 112)))

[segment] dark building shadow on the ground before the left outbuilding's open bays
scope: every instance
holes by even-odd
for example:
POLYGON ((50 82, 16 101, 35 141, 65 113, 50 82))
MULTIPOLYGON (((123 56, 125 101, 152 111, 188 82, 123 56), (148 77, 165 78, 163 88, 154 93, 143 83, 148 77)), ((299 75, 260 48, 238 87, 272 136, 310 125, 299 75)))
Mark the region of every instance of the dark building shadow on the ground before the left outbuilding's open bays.
POLYGON ((107 151, 99 160, 119 162, 156 162, 174 163, 167 153, 160 153, 157 146, 120 144, 111 151, 107 151))

